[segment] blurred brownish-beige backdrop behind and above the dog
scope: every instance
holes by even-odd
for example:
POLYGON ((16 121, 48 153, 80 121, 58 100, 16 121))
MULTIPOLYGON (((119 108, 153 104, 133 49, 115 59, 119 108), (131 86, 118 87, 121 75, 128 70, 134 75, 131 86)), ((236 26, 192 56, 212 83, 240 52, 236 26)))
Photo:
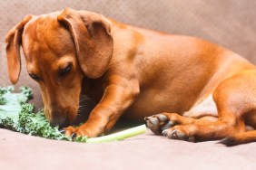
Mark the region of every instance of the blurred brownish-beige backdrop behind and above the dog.
MULTIPOLYGON (((123 22, 167 33, 201 37, 240 53, 256 63, 256 1, 254 0, 8 0, 0 1, 0 86, 9 85, 5 34, 26 14, 45 14, 64 7, 104 14, 123 22)), ((34 89, 34 102, 43 106, 40 90, 23 71, 17 86, 34 89)))

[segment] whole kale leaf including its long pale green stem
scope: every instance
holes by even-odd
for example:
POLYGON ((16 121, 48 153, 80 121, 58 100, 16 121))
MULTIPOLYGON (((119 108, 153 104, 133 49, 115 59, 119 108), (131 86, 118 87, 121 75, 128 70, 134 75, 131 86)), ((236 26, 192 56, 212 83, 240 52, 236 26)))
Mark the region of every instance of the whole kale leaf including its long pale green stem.
MULTIPOLYGON (((50 126, 43 110, 37 113, 33 112, 34 106, 28 103, 28 100, 32 99, 30 88, 21 87, 19 93, 14 93, 13 90, 13 87, 0 87, 0 127, 32 136, 72 141, 72 138, 62 134, 58 127, 50 126)), ((104 137, 76 137, 74 141, 99 143, 122 140, 142 134, 145 129, 146 127, 143 125, 104 137)))

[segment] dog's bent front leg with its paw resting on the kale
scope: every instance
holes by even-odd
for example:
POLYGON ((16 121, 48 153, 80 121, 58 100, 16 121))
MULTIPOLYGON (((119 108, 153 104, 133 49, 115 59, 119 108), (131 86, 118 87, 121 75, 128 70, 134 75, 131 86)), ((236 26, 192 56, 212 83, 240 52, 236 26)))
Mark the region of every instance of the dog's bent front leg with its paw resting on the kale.
POLYGON ((133 102, 136 90, 131 88, 109 85, 103 94, 103 99, 91 112, 88 120, 81 127, 66 127, 65 134, 71 136, 96 137, 110 130, 115 122, 133 102))

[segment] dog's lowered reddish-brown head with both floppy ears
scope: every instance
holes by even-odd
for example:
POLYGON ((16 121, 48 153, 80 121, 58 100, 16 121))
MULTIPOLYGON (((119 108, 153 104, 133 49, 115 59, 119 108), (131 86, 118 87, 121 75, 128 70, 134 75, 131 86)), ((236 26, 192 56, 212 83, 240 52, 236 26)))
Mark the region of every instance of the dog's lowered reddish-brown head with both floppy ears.
POLYGON ((10 80, 19 79, 22 46, 27 72, 42 90, 46 117, 54 125, 67 125, 77 115, 84 76, 96 79, 107 70, 111 32, 103 15, 86 11, 26 16, 5 38, 10 80))

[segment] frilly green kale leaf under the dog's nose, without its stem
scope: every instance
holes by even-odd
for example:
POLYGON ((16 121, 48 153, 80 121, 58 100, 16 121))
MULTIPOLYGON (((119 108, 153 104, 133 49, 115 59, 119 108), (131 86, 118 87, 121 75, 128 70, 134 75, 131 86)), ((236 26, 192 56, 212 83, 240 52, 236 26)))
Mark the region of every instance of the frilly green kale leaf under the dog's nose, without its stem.
POLYGON ((59 132, 58 127, 51 127, 44 117, 43 110, 33 113, 32 90, 21 87, 20 93, 12 93, 13 87, 0 88, 0 127, 32 136, 59 140, 71 140, 59 132))

